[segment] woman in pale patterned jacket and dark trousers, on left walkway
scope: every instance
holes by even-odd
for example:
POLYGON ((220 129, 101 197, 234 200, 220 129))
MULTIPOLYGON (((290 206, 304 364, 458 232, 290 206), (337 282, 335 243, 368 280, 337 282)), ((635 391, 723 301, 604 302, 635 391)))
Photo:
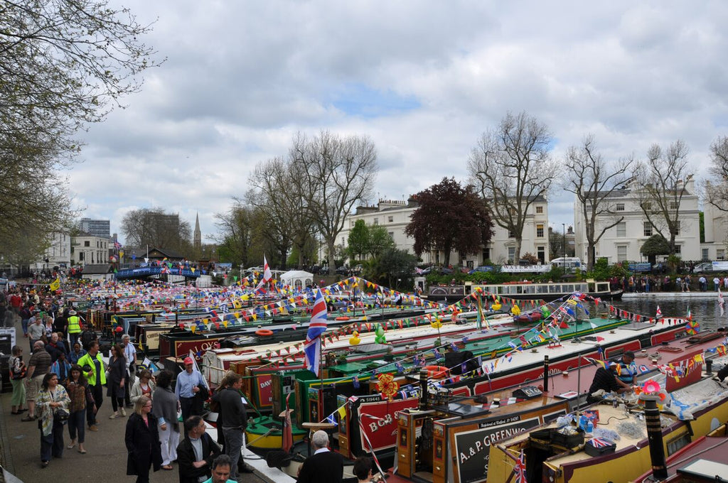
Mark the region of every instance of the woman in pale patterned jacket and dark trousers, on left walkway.
POLYGON ((43 377, 42 389, 38 393, 39 428, 41 431, 41 468, 50 463, 50 458, 63 458, 63 425, 68 420, 68 393, 58 383, 58 376, 48 372, 43 377), (61 414, 65 412, 65 418, 61 414))

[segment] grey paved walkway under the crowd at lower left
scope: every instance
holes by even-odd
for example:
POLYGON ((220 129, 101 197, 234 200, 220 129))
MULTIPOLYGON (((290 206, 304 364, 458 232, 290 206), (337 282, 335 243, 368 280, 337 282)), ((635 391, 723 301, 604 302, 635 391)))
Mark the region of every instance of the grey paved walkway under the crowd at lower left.
MULTIPOLYGON (((16 320, 18 343, 25 347, 20 319, 16 320)), ((106 391, 104 391, 106 395, 106 391)), ((63 458, 53 459, 47 468, 40 467, 40 431, 36 422, 23 423, 23 415, 10 414, 10 393, 0 396, 0 445, 7 454, 6 469, 23 483, 41 482, 134 482, 135 476, 127 476, 127 450, 124 445, 124 431, 127 418, 108 419, 111 415, 111 401, 103 402, 98 415, 99 431, 86 431, 85 455, 74 450, 64 450, 63 458), (9 451, 8 451, 9 450, 9 451)), ((128 414, 128 410, 127 410, 128 414)), ((64 443, 70 441, 68 430, 63 434, 64 443)), ((178 467, 173 471, 159 470, 150 475, 151 483, 173 483, 179 481, 178 467)), ((266 481, 257 474, 242 474, 241 483, 266 481)))

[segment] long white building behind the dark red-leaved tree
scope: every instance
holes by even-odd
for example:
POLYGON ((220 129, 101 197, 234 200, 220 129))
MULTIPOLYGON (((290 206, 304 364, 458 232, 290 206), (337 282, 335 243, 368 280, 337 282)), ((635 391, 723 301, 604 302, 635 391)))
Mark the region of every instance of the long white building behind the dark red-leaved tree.
MULTIPOLYGON (((382 225, 387 228, 389 236, 395 241, 400 250, 414 253, 414 239, 405 235, 405 228, 410 223, 412 213, 418 204, 414 199, 408 201, 380 200, 374 207, 357 207, 353 215, 347 216, 344 230, 339 233, 339 243, 347 247, 349 232, 354 228, 357 220, 364 220, 367 225, 382 225)), ((491 241, 479 253, 452 252, 450 261, 452 265, 474 268, 483 265, 483 261, 491 260, 493 263, 507 263, 515 256, 515 239, 504 228, 494 226, 494 235, 491 241)), ((521 256, 526 253, 536 255, 540 260, 548 260, 548 203, 546 199, 539 199, 529 207, 526 225, 523 228, 523 241, 521 242, 521 256)), ((445 259, 443 252, 432 250, 424 252, 422 263, 439 265, 445 259)))

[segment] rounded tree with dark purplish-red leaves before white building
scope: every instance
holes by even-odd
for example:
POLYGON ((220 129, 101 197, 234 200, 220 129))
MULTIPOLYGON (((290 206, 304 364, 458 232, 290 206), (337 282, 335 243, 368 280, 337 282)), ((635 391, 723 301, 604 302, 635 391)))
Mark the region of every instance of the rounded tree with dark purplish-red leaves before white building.
POLYGON ((405 234, 414 238, 417 256, 425 250, 442 250, 448 265, 452 250, 472 253, 490 241, 493 223, 485 202, 472 186, 463 188, 454 178, 443 177, 414 198, 419 207, 412 213, 405 234))

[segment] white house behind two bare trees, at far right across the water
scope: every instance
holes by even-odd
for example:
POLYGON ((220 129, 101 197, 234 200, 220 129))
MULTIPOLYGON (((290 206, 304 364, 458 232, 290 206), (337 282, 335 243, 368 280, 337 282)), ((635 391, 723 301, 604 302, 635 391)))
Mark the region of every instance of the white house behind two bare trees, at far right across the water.
MULTIPOLYGON (((686 193, 679 206, 680 226, 675 238, 676 255, 683 260, 700 260, 700 209, 698 196, 695 193, 695 181, 688 180, 685 185, 686 193)), ((640 249, 650 236, 657 234, 654 227, 645 217, 640 203, 644 199, 636 191, 636 185, 627 185, 615 190, 608 199, 610 213, 601 215, 596 220, 596 233, 606 225, 611 225, 624 217, 617 225, 609 228, 595 247, 595 260, 606 258, 609 263, 623 261, 646 261, 640 249)), ((660 225, 660 215, 654 215, 654 222, 660 225)), ((664 223, 664 222, 663 222, 664 223)), ((662 230, 662 228, 660 228, 662 230)), ((587 240, 584 215, 581 204, 574 201, 574 232, 576 256, 587 260, 587 240)), ((668 236, 667 230, 662 230, 668 236)))

